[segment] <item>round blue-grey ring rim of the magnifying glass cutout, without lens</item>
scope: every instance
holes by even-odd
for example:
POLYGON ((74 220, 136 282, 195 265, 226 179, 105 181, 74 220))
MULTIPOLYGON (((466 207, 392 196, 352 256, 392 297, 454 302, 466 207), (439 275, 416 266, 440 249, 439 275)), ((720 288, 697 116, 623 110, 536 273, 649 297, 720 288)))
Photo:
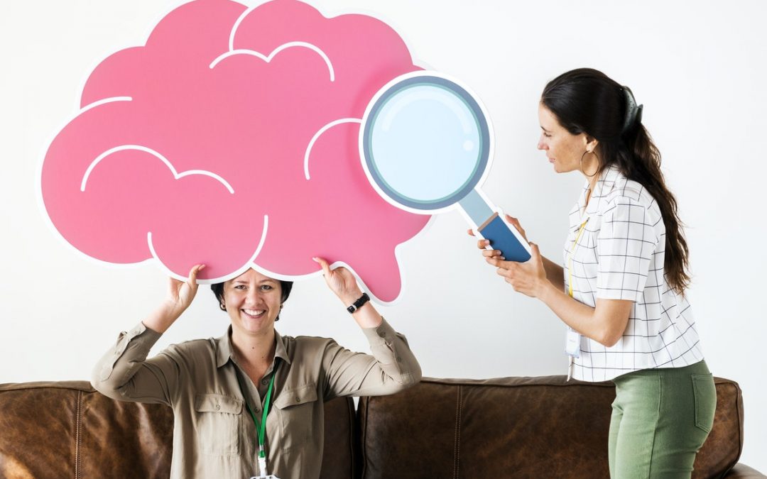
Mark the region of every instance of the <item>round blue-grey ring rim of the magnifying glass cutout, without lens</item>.
POLYGON ((413 72, 411 74, 405 74, 390 81, 389 84, 381 88, 375 95, 374 100, 370 102, 367 112, 365 113, 363 125, 360 129, 362 141, 360 142, 361 152, 364 164, 366 166, 368 178, 372 179, 374 184, 377 185, 377 189, 383 192, 384 196, 390 198, 397 205, 407 207, 407 209, 426 210, 430 213, 433 210, 447 209, 455 205, 461 199, 471 192, 472 189, 479 184, 483 176, 487 172, 489 166, 490 152, 492 150, 489 121, 487 120, 487 114, 484 108, 482 108, 479 100, 474 97, 465 87, 458 84, 456 81, 446 78, 442 75, 436 75, 428 72, 413 72), (446 90, 450 94, 455 95, 468 108, 472 113, 472 117, 475 120, 477 130, 479 130, 479 159, 476 161, 472 174, 463 182, 458 189, 454 190, 449 195, 445 195, 442 198, 436 198, 433 200, 417 200, 409 198, 395 191, 384 180, 383 176, 377 169, 376 162, 374 161, 374 155, 372 152, 371 136, 373 131, 373 125, 377 120, 377 116, 380 111, 387 104, 387 100, 396 94, 399 94, 403 90, 410 89, 412 87, 419 86, 435 86, 443 90, 446 90))

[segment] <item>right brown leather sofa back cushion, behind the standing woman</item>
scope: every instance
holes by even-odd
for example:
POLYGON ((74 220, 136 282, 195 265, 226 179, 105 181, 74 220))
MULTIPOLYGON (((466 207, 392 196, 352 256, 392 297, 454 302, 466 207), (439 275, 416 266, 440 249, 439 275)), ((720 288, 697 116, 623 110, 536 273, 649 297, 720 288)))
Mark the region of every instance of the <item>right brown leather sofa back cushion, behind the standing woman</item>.
MULTIPOLYGON (((721 477, 742 448, 742 395, 715 379, 713 430, 693 478, 721 477)), ((611 382, 565 376, 430 379, 360 399, 362 477, 609 477, 611 382)))

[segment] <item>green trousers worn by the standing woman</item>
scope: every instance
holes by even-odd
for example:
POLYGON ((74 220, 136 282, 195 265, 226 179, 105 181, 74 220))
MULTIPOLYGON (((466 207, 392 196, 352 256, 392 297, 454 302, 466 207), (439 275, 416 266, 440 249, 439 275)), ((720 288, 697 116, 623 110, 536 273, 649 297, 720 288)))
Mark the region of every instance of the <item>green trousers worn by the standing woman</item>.
POLYGON ((706 362, 643 369, 613 382, 610 477, 689 478, 716 409, 716 389, 706 362))

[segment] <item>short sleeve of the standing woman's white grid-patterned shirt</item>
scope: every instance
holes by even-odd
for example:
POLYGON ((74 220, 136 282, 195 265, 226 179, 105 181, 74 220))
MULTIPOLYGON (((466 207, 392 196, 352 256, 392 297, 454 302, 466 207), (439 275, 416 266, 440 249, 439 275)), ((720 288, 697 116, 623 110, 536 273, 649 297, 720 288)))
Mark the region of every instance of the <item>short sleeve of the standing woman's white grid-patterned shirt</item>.
POLYGON ((597 298, 640 297, 659 241, 658 221, 658 215, 632 198, 620 196, 608 205, 597 235, 597 298))

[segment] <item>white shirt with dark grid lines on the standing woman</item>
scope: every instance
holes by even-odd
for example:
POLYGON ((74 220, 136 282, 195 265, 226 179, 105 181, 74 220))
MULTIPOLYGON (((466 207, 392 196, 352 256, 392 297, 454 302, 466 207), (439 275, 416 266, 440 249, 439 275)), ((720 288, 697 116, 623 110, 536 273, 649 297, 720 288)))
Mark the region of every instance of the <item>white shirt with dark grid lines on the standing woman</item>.
POLYGON ((581 336, 581 357, 575 359, 573 377, 607 381, 638 369, 699 362, 703 353, 690 303, 669 287, 663 274, 666 228, 657 202, 616 166, 602 172, 587 208, 588 189, 587 181, 570 212, 565 290, 571 278, 573 297, 581 303, 595 307, 597 298, 631 300, 634 307, 614 346, 581 336))

